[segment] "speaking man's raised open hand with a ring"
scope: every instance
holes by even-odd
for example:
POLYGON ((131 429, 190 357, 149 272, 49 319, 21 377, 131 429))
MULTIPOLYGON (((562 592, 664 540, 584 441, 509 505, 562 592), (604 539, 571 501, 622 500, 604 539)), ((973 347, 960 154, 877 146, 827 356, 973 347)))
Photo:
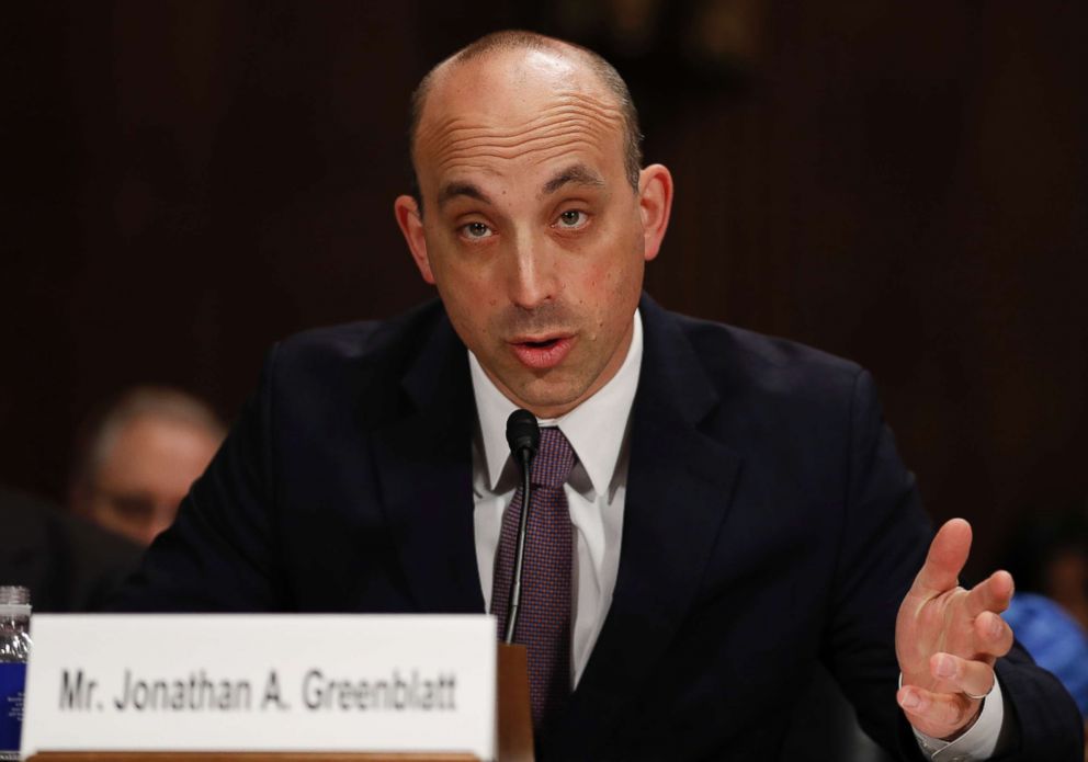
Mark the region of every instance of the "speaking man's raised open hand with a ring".
POLYGON ((997 680, 994 662, 1012 647, 1000 617, 1012 600, 1012 577, 996 571, 964 590, 959 577, 970 551, 971 524, 945 523, 895 622, 903 672, 896 700, 910 724, 933 738, 954 738, 974 723, 981 696, 997 680))

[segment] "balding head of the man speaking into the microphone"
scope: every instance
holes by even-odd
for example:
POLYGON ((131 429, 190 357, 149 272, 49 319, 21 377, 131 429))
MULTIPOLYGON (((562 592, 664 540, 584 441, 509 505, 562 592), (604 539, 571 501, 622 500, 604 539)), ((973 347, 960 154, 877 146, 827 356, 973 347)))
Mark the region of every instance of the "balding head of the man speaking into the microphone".
POLYGON ((508 399, 564 414, 626 357, 671 175, 639 168, 615 70, 557 39, 485 37, 435 67, 413 105, 418 191, 394 213, 420 275, 508 399))

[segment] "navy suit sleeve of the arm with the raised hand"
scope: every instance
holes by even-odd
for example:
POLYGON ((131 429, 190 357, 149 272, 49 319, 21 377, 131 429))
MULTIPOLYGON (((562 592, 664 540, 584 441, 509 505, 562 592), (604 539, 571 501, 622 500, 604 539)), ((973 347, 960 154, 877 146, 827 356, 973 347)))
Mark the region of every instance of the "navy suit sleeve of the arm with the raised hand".
MULTIPOLYGON (((899 603, 926 558, 932 528, 884 422, 872 377, 859 372, 850 406, 839 560, 824 660, 872 738, 899 759, 925 759, 895 703, 899 668, 893 648, 899 603)), ((1080 762, 1084 747, 1068 693, 1013 646, 998 678, 1019 743, 1000 760, 1080 762)))

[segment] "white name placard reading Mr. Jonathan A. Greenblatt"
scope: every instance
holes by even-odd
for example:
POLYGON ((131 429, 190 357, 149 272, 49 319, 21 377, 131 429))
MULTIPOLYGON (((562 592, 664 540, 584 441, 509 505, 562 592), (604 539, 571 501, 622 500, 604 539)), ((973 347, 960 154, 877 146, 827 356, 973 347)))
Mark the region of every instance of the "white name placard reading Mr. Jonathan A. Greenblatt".
POLYGON ((490 616, 36 614, 22 753, 495 758, 490 616))

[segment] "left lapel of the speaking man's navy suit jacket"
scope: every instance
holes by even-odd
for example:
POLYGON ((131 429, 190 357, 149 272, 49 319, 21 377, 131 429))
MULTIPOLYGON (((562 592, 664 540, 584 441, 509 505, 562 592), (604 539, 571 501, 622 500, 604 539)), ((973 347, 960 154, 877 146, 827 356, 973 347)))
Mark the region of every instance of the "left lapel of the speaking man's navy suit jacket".
POLYGON ((484 613, 473 530, 468 360, 444 314, 404 377, 403 414, 373 439, 383 510, 417 610, 484 613))

